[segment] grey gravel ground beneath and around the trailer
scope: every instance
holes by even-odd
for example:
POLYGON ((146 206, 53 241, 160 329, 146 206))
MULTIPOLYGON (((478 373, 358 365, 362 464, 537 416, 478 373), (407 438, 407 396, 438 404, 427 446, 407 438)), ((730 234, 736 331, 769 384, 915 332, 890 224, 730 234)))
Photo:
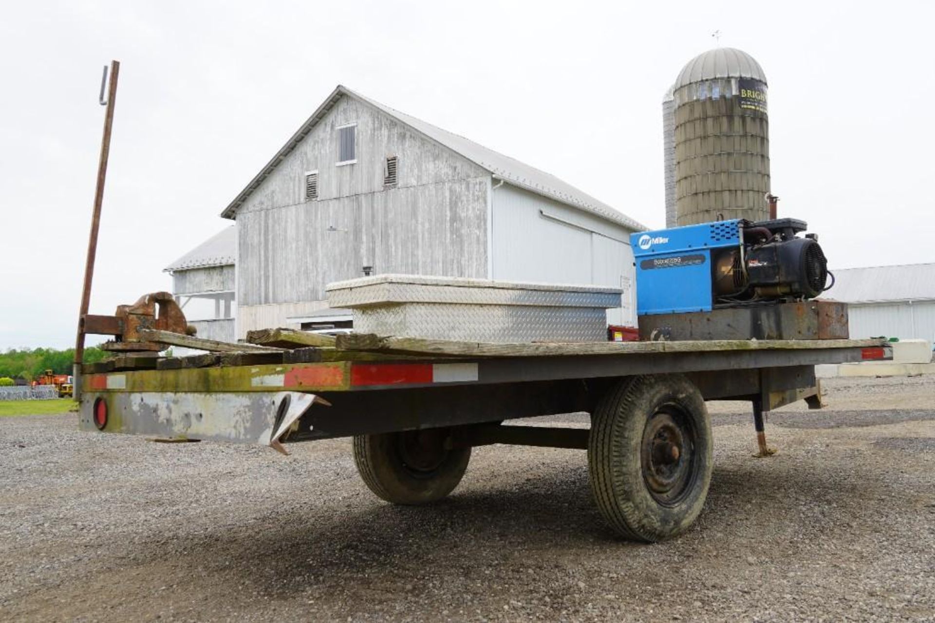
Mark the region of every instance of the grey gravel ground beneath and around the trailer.
POLYGON ((748 405, 712 403, 706 509, 654 545, 601 524, 581 451, 477 448, 449 500, 398 508, 347 440, 3 418, 0 619, 935 620, 935 378, 825 386, 771 414, 765 459, 748 405))

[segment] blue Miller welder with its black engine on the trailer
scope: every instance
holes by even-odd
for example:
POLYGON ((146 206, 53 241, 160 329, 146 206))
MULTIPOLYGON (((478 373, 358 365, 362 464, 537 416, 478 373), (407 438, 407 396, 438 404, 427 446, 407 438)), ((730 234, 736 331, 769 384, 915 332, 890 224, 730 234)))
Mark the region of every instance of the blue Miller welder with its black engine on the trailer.
MULTIPOLYGON (((798 219, 742 219, 633 234, 640 314, 801 301, 827 290, 827 261, 798 219)), ((833 284, 833 282, 832 282, 833 284)))

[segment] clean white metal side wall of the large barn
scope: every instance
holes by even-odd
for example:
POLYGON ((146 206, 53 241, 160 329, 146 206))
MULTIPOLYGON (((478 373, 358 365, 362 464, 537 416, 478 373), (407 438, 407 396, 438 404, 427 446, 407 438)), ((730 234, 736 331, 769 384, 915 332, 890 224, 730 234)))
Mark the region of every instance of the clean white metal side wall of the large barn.
POLYGON ((492 214, 493 279, 624 288, 608 321, 635 326, 629 230, 507 183, 492 214))

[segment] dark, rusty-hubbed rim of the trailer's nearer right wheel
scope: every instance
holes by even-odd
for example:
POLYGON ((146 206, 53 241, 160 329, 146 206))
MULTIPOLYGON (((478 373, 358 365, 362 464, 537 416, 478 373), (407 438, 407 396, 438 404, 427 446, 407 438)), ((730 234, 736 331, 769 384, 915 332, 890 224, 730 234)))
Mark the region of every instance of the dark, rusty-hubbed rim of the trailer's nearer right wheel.
POLYGON ((681 407, 659 407, 643 428, 640 462, 643 481, 653 499, 675 506, 698 478, 698 429, 681 407))

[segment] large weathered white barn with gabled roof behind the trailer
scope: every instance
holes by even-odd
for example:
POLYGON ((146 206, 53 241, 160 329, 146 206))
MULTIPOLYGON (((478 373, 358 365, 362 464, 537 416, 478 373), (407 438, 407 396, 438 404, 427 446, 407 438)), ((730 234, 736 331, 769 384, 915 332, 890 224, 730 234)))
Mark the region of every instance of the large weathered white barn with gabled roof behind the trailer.
POLYGON ((644 229, 594 197, 338 86, 223 210, 237 220, 237 335, 301 326, 324 287, 408 273, 623 287, 644 229))

